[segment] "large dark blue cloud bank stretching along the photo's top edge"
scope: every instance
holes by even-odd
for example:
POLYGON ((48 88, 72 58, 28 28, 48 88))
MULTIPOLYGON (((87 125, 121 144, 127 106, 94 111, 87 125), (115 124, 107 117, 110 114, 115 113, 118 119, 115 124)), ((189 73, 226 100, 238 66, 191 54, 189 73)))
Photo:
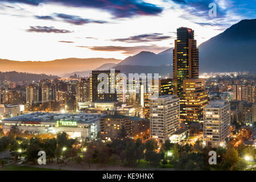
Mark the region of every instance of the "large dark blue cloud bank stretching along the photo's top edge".
POLYGON ((111 13, 114 18, 128 18, 135 15, 158 15, 163 7, 158 7, 142 0, 3 0, 13 3, 39 5, 39 3, 55 3, 72 7, 88 7, 101 9, 111 13))

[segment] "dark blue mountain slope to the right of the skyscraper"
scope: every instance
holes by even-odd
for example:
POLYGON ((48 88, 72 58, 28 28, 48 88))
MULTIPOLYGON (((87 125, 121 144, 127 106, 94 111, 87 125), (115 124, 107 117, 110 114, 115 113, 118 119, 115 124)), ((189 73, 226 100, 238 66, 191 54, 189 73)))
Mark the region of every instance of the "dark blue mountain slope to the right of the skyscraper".
POLYGON ((200 72, 256 72, 256 19, 241 20, 199 46, 200 72))

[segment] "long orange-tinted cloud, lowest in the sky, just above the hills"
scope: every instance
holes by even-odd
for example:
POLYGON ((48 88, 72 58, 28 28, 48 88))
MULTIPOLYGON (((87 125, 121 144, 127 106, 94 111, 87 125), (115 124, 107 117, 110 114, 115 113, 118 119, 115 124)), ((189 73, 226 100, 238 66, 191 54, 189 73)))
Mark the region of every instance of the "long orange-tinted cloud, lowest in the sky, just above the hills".
POLYGON ((123 46, 76 46, 81 48, 88 48, 92 51, 107 51, 107 52, 114 52, 114 51, 122 51, 124 55, 135 55, 141 51, 151 51, 155 53, 162 52, 169 47, 159 47, 154 44, 151 46, 134 46, 134 47, 123 47, 123 46))

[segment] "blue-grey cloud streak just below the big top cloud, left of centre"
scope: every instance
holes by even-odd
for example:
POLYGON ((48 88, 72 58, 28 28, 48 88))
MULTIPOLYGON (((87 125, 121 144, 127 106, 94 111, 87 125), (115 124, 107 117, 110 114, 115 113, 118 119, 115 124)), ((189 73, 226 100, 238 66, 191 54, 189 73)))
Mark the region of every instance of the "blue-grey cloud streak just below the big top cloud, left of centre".
POLYGON ((64 20, 64 22, 76 24, 76 25, 83 25, 87 23, 108 23, 106 21, 102 20, 93 20, 93 19, 84 19, 80 16, 75 15, 67 15, 67 14, 55 14, 58 18, 61 18, 64 20))

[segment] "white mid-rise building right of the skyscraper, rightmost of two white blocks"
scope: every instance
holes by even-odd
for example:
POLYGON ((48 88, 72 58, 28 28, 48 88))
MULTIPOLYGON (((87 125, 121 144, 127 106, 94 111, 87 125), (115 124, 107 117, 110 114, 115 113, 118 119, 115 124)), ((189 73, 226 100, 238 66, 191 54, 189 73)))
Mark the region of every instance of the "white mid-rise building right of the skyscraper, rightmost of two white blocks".
POLYGON ((204 144, 206 146, 224 146, 230 134, 229 101, 210 101, 204 107, 204 144))

